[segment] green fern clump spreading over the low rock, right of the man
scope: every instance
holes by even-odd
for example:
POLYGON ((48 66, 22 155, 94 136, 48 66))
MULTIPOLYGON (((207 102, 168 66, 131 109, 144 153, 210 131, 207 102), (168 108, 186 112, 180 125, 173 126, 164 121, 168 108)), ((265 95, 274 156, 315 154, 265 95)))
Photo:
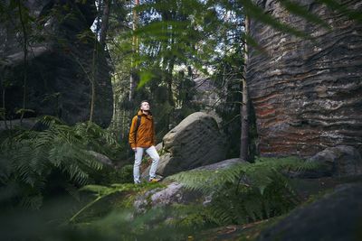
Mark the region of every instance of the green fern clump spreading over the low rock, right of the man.
POLYGON ((207 217, 218 225, 243 224, 286 213, 300 203, 282 171, 316 168, 297 158, 256 159, 217 171, 186 171, 169 177, 210 195, 207 217))

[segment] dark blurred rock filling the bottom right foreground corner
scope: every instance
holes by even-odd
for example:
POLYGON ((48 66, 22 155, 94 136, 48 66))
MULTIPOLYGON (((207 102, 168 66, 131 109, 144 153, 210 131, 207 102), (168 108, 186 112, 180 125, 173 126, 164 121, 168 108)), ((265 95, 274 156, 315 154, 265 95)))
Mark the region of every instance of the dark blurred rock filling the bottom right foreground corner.
POLYGON ((262 231, 257 240, 361 240, 362 183, 339 185, 332 193, 262 231))

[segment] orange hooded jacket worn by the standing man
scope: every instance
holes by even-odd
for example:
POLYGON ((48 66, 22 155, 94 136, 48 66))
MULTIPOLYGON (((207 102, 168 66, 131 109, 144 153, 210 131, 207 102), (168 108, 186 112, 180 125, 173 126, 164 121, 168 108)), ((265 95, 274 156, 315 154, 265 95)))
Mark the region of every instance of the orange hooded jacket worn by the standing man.
POLYGON ((132 118, 132 125, 129 129, 129 144, 131 148, 135 147, 150 147, 156 143, 155 125, 153 123, 152 114, 145 115, 141 110, 138 111, 137 116, 132 118), (136 125, 138 116, 141 116, 141 122, 138 126, 136 136, 136 125), (136 140, 135 140, 136 137, 136 140))

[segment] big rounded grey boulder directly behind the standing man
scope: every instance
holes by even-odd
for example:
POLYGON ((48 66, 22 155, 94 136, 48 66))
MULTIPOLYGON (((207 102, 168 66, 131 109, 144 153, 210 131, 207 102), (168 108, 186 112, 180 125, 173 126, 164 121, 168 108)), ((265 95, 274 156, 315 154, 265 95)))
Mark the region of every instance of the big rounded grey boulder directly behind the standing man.
POLYGON ((157 168, 161 176, 220 162, 225 155, 224 137, 216 121, 202 112, 187 116, 169 131, 163 138, 163 148, 166 153, 161 155, 157 168))

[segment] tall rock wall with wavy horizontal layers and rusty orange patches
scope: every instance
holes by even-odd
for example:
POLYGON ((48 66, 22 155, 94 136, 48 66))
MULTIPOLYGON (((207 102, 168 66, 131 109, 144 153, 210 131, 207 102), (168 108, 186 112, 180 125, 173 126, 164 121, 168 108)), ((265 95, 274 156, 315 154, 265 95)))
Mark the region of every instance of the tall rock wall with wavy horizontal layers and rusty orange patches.
MULTIPOLYGON (((297 2, 329 23, 331 31, 288 14, 279 1, 254 2, 315 38, 250 23, 252 37, 268 53, 252 49, 247 63, 260 153, 308 157, 338 144, 362 153, 362 24, 314 0, 297 2)), ((340 2, 362 11, 358 0, 340 2)))

